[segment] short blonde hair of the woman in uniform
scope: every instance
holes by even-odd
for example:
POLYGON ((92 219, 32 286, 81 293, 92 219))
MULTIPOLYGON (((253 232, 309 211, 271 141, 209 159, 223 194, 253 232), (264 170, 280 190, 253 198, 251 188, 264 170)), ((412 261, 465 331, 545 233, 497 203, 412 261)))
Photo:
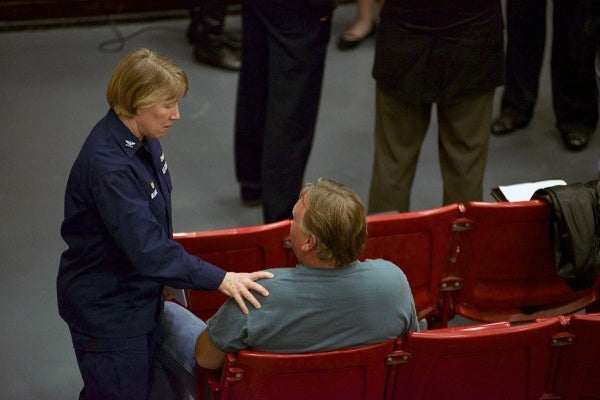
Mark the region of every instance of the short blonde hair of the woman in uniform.
POLYGON ((133 117, 159 101, 178 100, 188 90, 185 72, 165 56, 136 49, 112 73, 106 99, 117 115, 133 117))

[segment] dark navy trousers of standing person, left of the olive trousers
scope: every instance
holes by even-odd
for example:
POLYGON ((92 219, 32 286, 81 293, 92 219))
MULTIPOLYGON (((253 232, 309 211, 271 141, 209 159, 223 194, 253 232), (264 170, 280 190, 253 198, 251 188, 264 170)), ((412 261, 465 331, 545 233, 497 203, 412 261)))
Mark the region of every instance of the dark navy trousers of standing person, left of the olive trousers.
POLYGON ((265 223, 292 217, 313 143, 331 18, 303 0, 242 2, 235 169, 265 223))

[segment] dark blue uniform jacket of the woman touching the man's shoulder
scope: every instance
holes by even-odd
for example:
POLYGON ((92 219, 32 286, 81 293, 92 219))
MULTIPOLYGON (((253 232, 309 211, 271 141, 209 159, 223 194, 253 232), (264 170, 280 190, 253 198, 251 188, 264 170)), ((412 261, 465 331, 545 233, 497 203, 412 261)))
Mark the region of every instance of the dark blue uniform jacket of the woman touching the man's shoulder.
POLYGON ((140 142, 110 110, 86 139, 65 194, 68 249, 57 293, 71 329, 99 338, 143 335, 156 326, 164 284, 221 284, 225 271, 172 240, 171 189, 158 140, 140 142))

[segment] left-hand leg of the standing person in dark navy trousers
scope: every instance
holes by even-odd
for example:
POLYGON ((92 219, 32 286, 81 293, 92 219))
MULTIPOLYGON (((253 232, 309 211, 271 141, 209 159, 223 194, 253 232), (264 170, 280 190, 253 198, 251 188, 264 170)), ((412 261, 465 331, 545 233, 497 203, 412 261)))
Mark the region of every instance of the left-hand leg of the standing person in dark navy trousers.
POLYGON ((235 110, 235 174, 242 202, 262 197, 262 159, 267 110, 268 47, 263 23, 249 2, 242 2, 242 67, 235 110))

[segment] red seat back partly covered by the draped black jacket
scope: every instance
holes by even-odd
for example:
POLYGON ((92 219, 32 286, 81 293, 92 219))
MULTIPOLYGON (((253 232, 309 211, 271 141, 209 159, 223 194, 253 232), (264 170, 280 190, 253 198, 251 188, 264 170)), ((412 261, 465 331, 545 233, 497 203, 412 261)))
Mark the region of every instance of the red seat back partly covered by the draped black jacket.
POLYGON ((597 288, 574 292, 556 274, 551 210, 542 201, 471 202, 460 234, 454 311, 477 321, 527 321, 576 312, 597 288))

